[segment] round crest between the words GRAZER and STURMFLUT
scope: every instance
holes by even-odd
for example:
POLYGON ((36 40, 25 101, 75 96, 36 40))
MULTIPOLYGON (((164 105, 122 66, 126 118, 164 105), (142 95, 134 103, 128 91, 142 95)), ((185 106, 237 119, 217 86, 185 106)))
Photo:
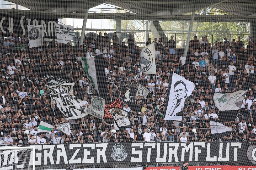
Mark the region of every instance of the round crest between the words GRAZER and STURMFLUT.
POLYGON ((127 153, 125 152, 125 147, 121 144, 115 144, 112 148, 112 154, 111 157, 115 161, 123 161, 127 157, 127 153))

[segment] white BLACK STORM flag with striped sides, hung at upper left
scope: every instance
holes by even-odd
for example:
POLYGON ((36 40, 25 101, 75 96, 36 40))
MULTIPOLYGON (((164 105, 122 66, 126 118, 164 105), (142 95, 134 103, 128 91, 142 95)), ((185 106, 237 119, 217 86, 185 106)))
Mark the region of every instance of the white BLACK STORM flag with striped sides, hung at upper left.
POLYGON ((71 25, 55 24, 57 43, 67 44, 75 36, 75 31, 71 25))

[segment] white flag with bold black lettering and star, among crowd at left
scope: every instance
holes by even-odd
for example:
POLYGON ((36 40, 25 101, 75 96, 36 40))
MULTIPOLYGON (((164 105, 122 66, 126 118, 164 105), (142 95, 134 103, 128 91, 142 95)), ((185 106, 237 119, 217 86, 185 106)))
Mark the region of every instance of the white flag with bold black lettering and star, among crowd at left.
POLYGON ((74 83, 46 86, 50 90, 50 95, 55 100, 57 107, 65 116, 65 119, 78 119, 87 115, 85 109, 82 107, 82 101, 73 94, 74 83))

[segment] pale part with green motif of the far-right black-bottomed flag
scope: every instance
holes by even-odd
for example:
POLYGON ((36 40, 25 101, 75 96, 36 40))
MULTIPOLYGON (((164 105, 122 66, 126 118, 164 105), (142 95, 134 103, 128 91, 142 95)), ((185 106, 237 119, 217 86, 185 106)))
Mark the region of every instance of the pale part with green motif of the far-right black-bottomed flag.
POLYGON ((214 93, 213 100, 220 111, 240 109, 247 90, 238 90, 233 93, 214 93))

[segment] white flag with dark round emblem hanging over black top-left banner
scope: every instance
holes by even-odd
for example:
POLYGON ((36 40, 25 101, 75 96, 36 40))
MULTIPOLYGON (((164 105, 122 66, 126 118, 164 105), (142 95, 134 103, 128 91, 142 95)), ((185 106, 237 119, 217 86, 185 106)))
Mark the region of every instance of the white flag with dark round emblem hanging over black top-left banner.
POLYGON ((30 48, 44 45, 44 26, 30 26, 28 25, 28 38, 30 48))

